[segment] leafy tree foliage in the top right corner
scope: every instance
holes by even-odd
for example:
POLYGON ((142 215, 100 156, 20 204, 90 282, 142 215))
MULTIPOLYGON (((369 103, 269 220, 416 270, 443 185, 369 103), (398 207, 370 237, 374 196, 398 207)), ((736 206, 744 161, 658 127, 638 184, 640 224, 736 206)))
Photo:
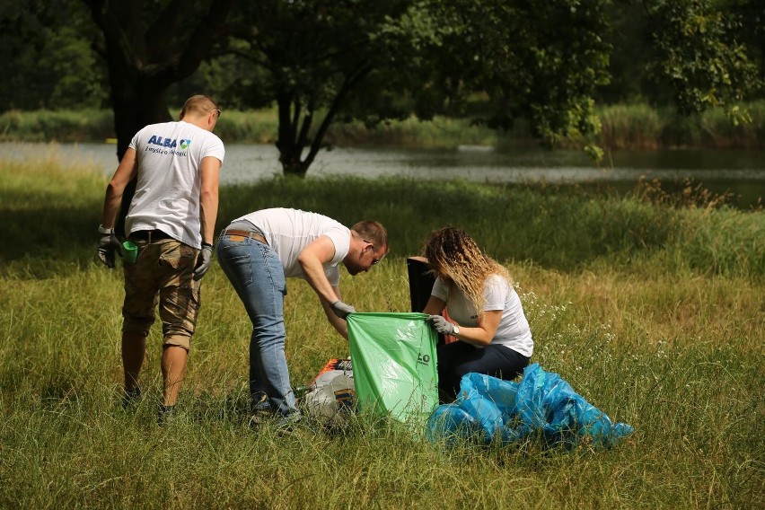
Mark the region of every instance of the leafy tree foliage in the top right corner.
POLYGON ((765 92, 761 0, 615 0, 608 15, 612 80, 597 93, 604 101, 689 115, 765 92))

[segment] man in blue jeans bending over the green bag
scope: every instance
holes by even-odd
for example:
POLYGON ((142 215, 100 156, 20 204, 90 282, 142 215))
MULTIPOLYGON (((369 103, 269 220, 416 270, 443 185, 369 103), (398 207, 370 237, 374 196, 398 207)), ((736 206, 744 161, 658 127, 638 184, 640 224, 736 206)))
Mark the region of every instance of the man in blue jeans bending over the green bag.
POLYGON ((340 297, 342 263, 351 276, 368 271, 388 252, 382 224, 367 220, 350 229, 330 217, 273 208, 233 220, 221 232, 217 259, 252 322, 250 393, 254 414, 298 418, 285 356, 286 278, 302 278, 330 324, 347 339, 352 306, 340 297))

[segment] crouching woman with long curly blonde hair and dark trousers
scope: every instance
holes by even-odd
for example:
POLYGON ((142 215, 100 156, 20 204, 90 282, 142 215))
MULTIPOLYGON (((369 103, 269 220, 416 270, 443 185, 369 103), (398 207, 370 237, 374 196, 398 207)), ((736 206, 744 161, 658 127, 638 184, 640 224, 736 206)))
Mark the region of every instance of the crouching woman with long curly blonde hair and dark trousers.
POLYGON ((442 400, 456 397, 464 374, 511 380, 523 373, 534 343, 507 269, 451 226, 430 234, 425 257, 435 276, 426 321, 459 340, 437 347, 442 400), (444 308, 456 323, 441 315, 444 308))

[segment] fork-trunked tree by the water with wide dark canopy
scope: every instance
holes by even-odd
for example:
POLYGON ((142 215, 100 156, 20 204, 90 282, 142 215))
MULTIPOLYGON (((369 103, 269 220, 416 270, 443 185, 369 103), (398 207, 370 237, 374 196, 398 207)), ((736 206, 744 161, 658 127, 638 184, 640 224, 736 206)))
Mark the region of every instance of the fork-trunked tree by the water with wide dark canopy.
POLYGON ((374 126, 457 113, 508 128, 525 118, 554 145, 598 128, 591 97, 607 80, 603 4, 241 2, 227 50, 261 70, 239 93, 251 106, 276 102, 286 173, 305 174, 335 120, 374 126), (470 112, 477 94, 485 107, 470 112))

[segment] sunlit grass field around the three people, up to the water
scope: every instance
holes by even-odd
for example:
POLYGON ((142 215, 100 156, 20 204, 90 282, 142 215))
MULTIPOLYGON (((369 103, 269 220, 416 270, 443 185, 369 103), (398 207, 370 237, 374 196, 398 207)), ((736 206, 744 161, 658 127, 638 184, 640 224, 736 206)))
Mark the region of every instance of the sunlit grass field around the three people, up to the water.
MULTIPOLYGON (((218 226, 288 206, 382 221, 391 255, 343 274, 359 311, 409 311, 406 257, 457 224, 506 264, 532 361, 635 433, 609 450, 429 444, 359 418, 343 434, 247 424, 249 321, 203 280, 179 419, 159 426, 155 326, 145 398, 119 406, 121 271, 96 262, 106 181, 0 159, 0 508, 762 508, 765 215, 646 190, 278 179, 221 189, 218 226), (653 199, 649 199, 653 198, 653 199)), ((290 281, 295 385, 347 356, 290 281)))

